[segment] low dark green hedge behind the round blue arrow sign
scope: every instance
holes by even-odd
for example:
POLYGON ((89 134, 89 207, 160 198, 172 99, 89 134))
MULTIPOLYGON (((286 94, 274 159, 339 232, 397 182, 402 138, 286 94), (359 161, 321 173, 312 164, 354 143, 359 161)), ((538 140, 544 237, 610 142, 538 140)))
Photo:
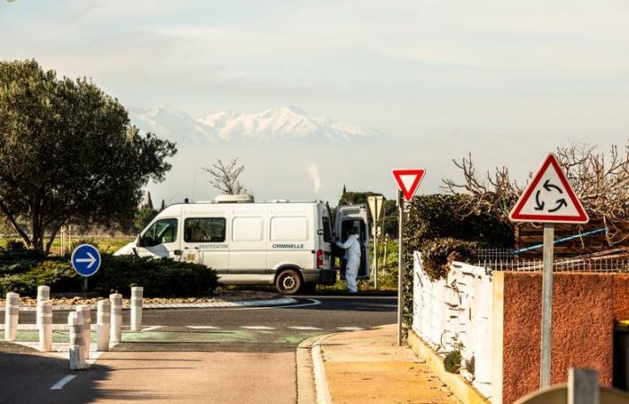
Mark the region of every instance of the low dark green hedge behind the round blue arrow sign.
MULTIPOLYGON (((35 296, 38 285, 49 285, 52 293, 80 292, 83 278, 69 258, 43 258, 28 253, 0 251, 0 293, 35 296)), ((130 293, 132 285, 144 286, 146 297, 197 296, 211 294, 217 287, 214 270, 173 259, 102 255, 99 271, 88 281, 89 291, 107 296, 130 293)))

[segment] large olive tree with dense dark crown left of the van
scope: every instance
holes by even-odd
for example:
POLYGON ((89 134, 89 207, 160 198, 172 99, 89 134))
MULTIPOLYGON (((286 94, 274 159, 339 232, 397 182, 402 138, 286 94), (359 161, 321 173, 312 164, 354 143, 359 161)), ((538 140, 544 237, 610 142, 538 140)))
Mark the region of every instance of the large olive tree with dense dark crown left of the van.
POLYGON ((128 224, 175 145, 140 135, 120 102, 35 60, 0 62, 0 215, 32 249, 62 225, 128 224), (29 224, 23 229, 18 220, 29 224))

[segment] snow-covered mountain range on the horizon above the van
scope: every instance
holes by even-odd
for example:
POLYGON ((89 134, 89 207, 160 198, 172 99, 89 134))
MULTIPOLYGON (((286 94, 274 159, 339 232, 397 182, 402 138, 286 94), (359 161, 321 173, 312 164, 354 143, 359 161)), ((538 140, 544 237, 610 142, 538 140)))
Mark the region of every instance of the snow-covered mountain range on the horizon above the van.
POLYGON ((185 112, 159 107, 130 109, 131 122, 179 145, 216 143, 353 142, 384 137, 380 132, 329 117, 311 117, 296 107, 259 113, 233 110, 194 119, 185 112))

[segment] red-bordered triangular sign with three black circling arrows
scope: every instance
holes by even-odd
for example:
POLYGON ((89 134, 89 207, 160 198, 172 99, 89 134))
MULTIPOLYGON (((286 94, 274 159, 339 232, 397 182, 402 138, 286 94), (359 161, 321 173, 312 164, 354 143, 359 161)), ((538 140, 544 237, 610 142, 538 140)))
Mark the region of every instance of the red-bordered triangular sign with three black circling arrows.
POLYGON ((513 206, 513 222, 588 223, 589 217, 574 194, 554 154, 548 154, 513 206))

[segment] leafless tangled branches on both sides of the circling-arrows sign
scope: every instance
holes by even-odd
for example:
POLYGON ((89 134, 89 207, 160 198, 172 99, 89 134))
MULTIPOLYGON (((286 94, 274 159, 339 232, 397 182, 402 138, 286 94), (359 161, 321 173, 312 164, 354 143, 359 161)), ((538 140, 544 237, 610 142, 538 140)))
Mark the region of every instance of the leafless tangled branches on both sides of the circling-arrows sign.
MULTIPOLYGON (((620 226, 629 222, 629 144, 624 150, 614 145, 608 154, 598 152, 593 145, 573 144, 558 147, 556 155, 590 217, 601 219, 607 226, 608 244, 629 239, 629 233, 620 226)), ((509 210, 523 190, 511 180, 509 169, 497 168, 480 177, 471 154, 454 163, 464 178, 461 182, 444 180, 442 188, 473 197, 461 206, 460 214, 489 212, 508 221, 509 210)))

